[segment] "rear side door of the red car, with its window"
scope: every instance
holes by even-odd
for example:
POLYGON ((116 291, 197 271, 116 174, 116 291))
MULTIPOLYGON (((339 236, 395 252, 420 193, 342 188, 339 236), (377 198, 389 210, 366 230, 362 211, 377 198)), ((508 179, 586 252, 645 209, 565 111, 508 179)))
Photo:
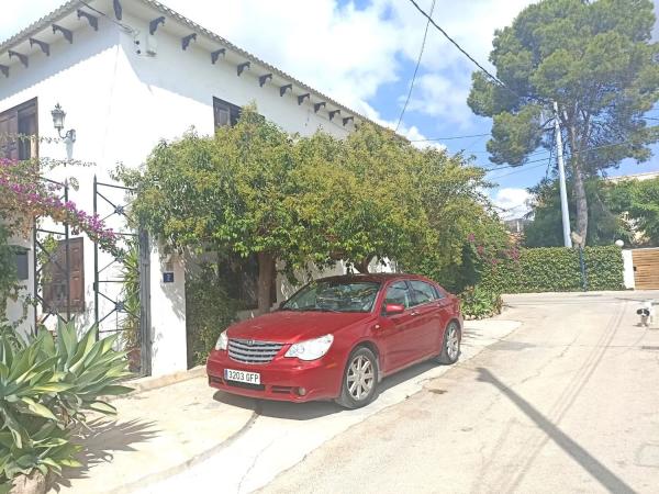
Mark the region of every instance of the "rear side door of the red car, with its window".
POLYGON ((418 319, 414 352, 421 359, 439 352, 448 311, 446 297, 434 285, 422 280, 410 280, 409 283, 414 304, 412 313, 418 319))

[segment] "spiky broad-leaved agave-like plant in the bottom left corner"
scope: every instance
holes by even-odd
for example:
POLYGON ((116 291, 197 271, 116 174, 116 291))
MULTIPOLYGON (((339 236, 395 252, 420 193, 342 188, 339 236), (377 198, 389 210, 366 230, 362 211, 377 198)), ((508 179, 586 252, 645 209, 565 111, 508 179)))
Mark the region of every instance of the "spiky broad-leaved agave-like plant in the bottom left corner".
POLYGON ((0 332, 0 483, 79 465, 72 435, 85 412, 114 414, 100 397, 131 391, 118 384, 131 374, 115 340, 97 341, 96 327, 78 338, 72 323, 56 339, 45 329, 26 341, 0 332))

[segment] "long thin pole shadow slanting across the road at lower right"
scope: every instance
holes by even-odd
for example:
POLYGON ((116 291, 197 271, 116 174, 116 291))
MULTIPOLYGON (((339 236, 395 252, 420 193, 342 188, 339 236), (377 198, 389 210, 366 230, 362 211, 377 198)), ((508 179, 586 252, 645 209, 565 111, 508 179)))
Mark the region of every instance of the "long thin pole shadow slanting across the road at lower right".
POLYGON ((547 417, 539 413, 530 403, 507 388, 488 369, 478 368, 478 380, 495 386, 513 404, 517 406, 528 418, 537 426, 566 453, 577 461, 587 472, 589 472, 606 490, 615 493, 634 493, 635 491, 627 485, 621 478, 608 470, 602 462, 589 453, 577 441, 555 426, 547 417))

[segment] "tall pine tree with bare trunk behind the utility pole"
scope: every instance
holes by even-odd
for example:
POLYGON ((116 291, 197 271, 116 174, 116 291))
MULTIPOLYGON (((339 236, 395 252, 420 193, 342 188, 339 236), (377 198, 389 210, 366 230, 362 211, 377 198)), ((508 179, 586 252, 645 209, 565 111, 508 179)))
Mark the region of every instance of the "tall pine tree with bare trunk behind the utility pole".
POLYGON ((494 36, 490 61, 506 87, 472 76, 468 103, 493 119, 491 160, 524 165, 550 148, 558 102, 569 156, 576 232, 588 238, 584 181, 624 158, 645 160, 659 141, 643 114, 659 99, 659 44, 649 0, 544 0, 494 36))

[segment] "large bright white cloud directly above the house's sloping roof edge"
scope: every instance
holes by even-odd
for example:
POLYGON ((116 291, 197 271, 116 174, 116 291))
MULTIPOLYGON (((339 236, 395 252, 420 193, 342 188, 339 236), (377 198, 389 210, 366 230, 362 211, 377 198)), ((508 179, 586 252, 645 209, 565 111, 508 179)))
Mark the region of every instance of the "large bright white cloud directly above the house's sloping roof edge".
POLYGON ((238 46, 338 101, 366 112, 378 88, 396 80, 400 31, 382 20, 386 5, 365 10, 334 0, 243 0, 211 5, 166 0, 238 46))

